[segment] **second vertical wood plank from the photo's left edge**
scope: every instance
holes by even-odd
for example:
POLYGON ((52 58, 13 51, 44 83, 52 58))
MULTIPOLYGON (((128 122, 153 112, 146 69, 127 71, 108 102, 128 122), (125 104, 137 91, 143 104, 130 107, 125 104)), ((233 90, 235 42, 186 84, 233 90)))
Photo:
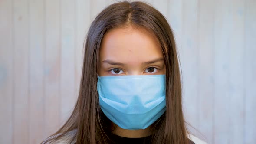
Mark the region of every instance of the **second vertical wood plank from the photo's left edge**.
POLYGON ((28 144, 28 1, 13 0, 14 97, 13 143, 28 144))

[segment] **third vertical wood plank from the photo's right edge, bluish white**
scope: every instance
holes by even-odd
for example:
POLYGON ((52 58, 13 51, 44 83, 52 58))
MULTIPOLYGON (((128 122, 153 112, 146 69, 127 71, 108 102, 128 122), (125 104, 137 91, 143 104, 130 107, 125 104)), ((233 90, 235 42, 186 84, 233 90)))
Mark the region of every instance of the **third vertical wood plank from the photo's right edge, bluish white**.
POLYGON ((231 6, 228 0, 217 0, 215 5, 215 107, 213 123, 213 144, 229 144, 229 75, 230 75, 230 33, 231 6))

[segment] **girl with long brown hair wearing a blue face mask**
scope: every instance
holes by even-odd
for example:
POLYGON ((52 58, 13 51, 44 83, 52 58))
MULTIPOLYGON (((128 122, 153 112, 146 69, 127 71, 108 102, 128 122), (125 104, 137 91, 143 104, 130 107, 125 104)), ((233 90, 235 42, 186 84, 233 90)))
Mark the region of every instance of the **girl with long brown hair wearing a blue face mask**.
POLYGON ((181 105, 172 30, 143 2, 105 8, 87 34, 79 97, 42 144, 194 144, 181 105))

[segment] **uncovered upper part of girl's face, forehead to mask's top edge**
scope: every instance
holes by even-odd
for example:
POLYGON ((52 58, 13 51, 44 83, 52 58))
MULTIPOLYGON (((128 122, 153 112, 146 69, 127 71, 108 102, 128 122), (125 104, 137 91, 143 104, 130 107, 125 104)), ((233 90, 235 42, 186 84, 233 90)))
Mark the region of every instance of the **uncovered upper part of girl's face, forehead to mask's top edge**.
POLYGON ((131 26, 111 29, 102 39, 99 76, 162 75, 164 57, 157 39, 131 26))

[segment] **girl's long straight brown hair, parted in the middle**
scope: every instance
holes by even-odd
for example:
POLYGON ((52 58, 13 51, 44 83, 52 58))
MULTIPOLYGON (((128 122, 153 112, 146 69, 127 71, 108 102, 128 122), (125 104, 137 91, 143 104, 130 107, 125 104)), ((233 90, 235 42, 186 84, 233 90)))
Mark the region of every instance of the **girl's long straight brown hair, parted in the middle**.
POLYGON ((153 124, 154 144, 187 144, 187 129, 182 112, 181 78, 177 50, 171 27, 165 17, 151 5, 118 2, 106 7, 92 22, 85 40, 85 54, 80 91, 68 121, 42 143, 69 137, 76 144, 107 144, 111 141, 110 120, 101 111, 97 92, 99 49, 104 34, 121 26, 141 27, 158 39, 166 65, 166 112, 153 124), (75 130, 75 133, 70 131, 75 130))

